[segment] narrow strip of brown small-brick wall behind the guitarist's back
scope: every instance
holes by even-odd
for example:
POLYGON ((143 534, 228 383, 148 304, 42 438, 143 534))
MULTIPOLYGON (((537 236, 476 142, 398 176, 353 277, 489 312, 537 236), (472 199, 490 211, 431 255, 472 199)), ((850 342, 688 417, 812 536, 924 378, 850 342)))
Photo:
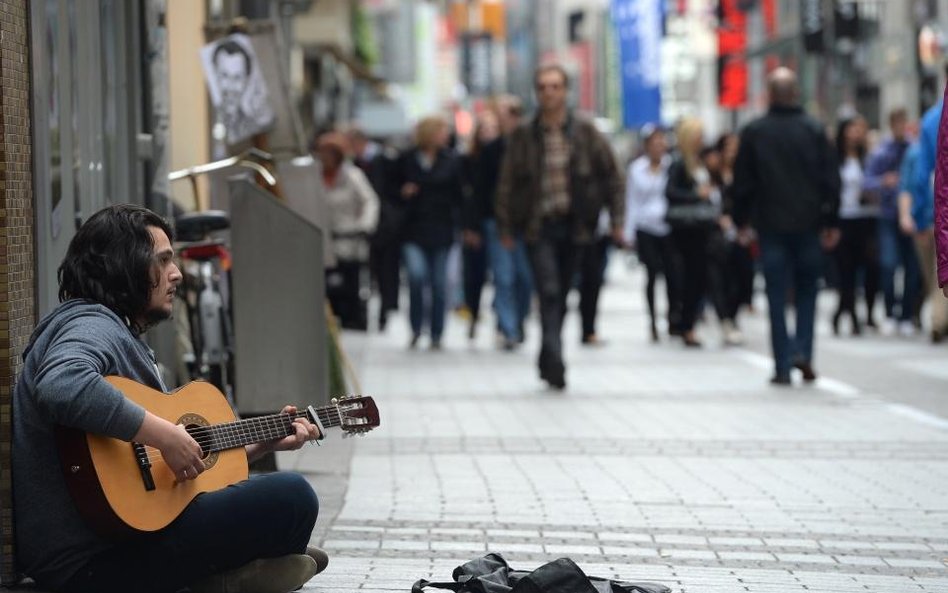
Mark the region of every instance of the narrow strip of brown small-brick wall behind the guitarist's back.
POLYGON ((0 581, 13 580, 10 403, 33 331, 29 3, 0 0, 0 581))

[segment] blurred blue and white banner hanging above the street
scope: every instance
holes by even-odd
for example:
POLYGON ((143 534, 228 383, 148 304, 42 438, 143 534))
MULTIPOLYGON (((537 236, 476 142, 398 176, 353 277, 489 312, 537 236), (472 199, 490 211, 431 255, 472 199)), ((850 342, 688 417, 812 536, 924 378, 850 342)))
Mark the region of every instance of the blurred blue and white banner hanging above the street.
POLYGON ((626 128, 661 120, 662 5, 663 0, 612 0, 626 128))

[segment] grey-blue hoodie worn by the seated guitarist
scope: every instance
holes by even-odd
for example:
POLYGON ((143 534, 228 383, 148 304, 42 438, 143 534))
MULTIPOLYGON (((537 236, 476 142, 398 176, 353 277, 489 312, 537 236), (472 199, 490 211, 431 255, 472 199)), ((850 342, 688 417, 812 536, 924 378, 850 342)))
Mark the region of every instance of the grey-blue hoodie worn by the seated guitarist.
POLYGON ((151 349, 109 309, 70 300, 40 321, 13 390, 13 496, 18 569, 58 589, 110 544, 79 516, 54 440, 57 424, 131 440, 145 410, 105 382, 165 391, 151 349))

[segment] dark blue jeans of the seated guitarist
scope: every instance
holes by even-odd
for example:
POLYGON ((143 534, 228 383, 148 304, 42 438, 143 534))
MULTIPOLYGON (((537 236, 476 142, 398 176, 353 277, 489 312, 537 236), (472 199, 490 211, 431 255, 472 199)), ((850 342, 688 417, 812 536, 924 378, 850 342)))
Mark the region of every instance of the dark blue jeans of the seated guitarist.
POLYGON ((253 476, 199 495, 168 527, 99 554, 63 590, 174 593, 258 558, 305 553, 318 513, 299 474, 253 476))

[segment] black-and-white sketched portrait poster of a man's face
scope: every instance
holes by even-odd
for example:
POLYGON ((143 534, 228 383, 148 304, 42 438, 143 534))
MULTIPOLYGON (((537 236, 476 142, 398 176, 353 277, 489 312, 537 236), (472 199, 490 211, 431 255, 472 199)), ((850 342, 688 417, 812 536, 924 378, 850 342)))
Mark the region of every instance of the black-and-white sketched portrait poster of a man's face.
POLYGON ((228 35, 205 45, 201 62, 216 125, 223 126, 227 144, 246 140, 273 125, 273 107, 249 37, 228 35))

